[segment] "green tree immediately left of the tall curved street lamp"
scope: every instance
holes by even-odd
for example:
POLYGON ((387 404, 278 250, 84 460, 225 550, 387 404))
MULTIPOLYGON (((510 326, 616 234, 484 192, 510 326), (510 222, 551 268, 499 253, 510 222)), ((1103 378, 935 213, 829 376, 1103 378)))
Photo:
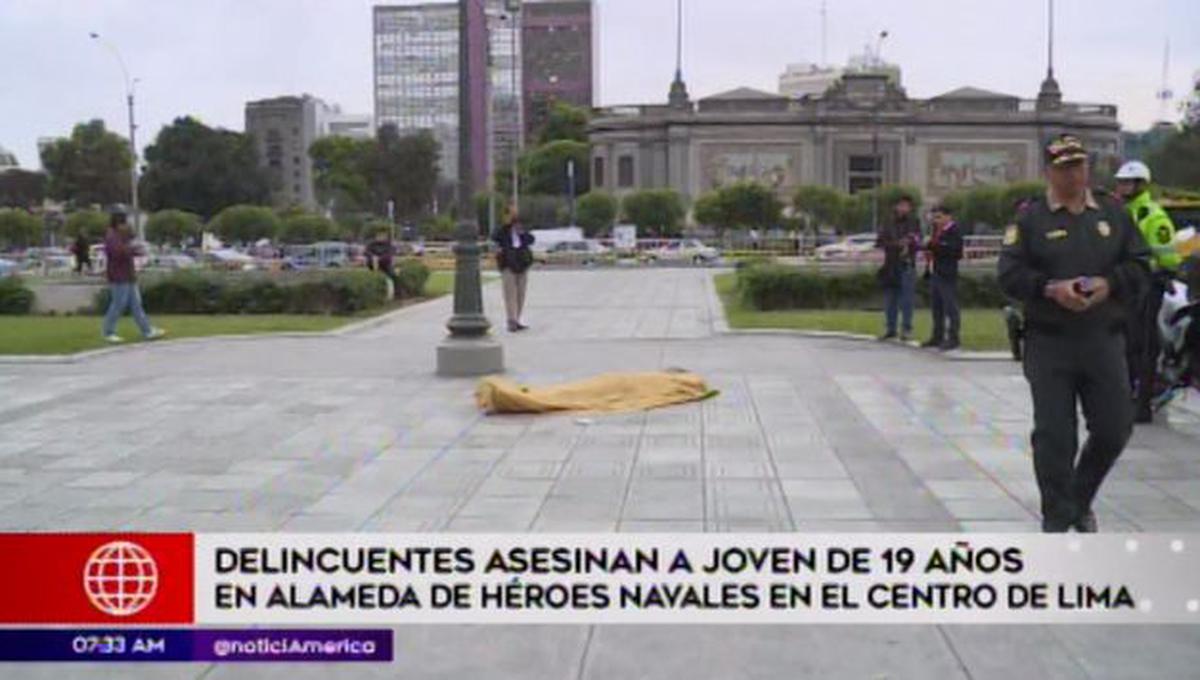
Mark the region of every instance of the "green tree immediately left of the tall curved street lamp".
POLYGON ((74 126, 71 137, 42 148, 52 198, 76 205, 108 205, 130 200, 128 142, 92 120, 74 126))

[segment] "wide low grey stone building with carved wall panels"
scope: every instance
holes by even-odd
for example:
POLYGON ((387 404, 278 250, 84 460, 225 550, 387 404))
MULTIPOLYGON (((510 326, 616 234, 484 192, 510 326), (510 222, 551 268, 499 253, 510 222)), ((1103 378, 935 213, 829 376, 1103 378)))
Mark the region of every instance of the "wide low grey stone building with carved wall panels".
POLYGON ((1060 132, 1112 163, 1121 151, 1116 116, 1115 106, 1063 102, 1052 76, 1037 100, 974 88, 912 100, 886 74, 847 73, 816 97, 738 89, 698 102, 677 76, 667 104, 598 112, 592 182, 617 194, 670 187, 689 200, 749 179, 785 200, 800 185, 854 192, 906 183, 936 200, 1039 177, 1043 140, 1060 132))

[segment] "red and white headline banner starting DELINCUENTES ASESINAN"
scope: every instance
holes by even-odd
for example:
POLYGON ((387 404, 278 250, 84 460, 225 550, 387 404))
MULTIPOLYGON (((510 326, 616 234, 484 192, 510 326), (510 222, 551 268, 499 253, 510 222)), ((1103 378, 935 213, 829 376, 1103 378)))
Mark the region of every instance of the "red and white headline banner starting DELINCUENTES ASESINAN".
POLYGON ((0 626, 1200 622, 1200 536, 0 534, 0 626))

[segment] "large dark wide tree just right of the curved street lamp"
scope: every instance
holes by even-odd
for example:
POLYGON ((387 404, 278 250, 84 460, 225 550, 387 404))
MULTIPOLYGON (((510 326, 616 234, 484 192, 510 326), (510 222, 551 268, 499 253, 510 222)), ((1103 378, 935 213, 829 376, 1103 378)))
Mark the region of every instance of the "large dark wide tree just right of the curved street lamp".
POLYGON ((139 191, 150 210, 174 207, 208 219, 239 204, 266 204, 270 186, 250 136, 176 118, 146 148, 139 191))

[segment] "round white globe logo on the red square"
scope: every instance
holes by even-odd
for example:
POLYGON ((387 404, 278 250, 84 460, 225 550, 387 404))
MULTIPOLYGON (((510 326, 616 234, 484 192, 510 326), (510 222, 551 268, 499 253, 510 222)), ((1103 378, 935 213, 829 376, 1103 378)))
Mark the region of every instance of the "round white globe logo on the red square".
POLYGON ((96 548, 83 567, 83 589, 92 607, 110 616, 132 616, 158 591, 158 565, 131 541, 96 548))

